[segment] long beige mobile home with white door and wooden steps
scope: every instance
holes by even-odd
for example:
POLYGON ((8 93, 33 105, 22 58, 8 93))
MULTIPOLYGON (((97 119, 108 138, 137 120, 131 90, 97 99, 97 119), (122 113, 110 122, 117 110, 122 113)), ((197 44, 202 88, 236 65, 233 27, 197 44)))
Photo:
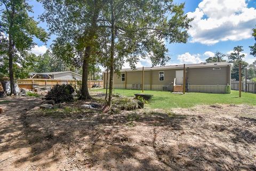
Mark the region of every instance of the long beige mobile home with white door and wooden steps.
MULTIPOLYGON (((186 91, 204 93, 225 93, 231 83, 231 64, 228 62, 186 64, 186 91)), ((142 68, 123 69, 114 74, 114 88, 141 89, 142 68)), ((106 88, 107 72, 104 72, 106 88)), ((108 76, 109 78, 109 76, 108 76)), ((144 68, 144 89, 181 92, 183 89, 183 64, 144 68)))

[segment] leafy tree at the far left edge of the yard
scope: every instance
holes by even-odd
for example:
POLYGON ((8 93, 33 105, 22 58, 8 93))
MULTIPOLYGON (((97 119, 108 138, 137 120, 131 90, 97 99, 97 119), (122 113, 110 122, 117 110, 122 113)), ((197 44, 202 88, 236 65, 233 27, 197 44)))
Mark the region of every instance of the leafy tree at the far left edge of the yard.
POLYGON ((0 46, 7 47, 4 55, 9 60, 11 94, 16 94, 14 89, 14 62, 22 58, 23 54, 35 45, 34 37, 46 42, 47 33, 43 28, 37 26, 38 22, 29 17, 28 13, 33 12, 33 10, 27 1, 0 0, 0 6, 4 6, 4 10, 0 11, 1 31, 8 35, 7 42, 3 40, 3 37, 0 37, 0 46))

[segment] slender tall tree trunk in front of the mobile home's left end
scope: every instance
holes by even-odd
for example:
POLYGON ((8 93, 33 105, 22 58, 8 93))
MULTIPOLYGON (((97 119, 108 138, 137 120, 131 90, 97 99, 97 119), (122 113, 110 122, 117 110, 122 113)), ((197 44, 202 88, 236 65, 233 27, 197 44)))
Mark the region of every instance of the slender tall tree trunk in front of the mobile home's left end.
POLYGON ((114 18, 114 7, 113 1, 111 1, 111 46, 110 46, 110 76, 109 76, 109 95, 108 105, 112 107, 112 91, 113 91, 113 77, 114 77, 114 51, 115 51, 115 18, 114 18))

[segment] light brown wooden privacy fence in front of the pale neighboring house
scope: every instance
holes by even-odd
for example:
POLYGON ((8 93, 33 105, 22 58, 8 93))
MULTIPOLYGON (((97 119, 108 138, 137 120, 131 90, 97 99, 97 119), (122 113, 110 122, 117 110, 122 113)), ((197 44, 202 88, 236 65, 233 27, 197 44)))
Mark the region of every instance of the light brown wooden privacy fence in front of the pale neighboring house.
MULTIPOLYGON (((20 88, 33 89, 34 87, 53 87, 54 85, 61 84, 72 84, 77 87, 76 80, 61 80, 61 79, 18 79, 18 86, 20 88)), ((94 84, 98 84, 103 87, 103 81, 89 80, 87 85, 88 88, 92 87, 94 84)))

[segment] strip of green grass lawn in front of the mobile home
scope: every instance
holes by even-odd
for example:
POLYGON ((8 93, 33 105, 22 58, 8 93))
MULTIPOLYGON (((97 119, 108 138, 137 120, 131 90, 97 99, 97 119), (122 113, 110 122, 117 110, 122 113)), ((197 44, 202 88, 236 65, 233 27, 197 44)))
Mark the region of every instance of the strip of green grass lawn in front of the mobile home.
MULTIPOLYGON (((92 89, 105 93, 106 89, 92 89)), ((133 97, 135 93, 141 91, 130 89, 115 89, 115 93, 133 97)), ((148 107, 156 109, 189 108, 198 104, 249 104, 256 105, 256 94, 242 92, 242 97, 238 97, 238 91, 231 91, 231 94, 210 94, 210 93, 186 93, 172 94, 162 91, 144 91, 145 94, 153 94, 153 99, 147 104, 148 107)))

